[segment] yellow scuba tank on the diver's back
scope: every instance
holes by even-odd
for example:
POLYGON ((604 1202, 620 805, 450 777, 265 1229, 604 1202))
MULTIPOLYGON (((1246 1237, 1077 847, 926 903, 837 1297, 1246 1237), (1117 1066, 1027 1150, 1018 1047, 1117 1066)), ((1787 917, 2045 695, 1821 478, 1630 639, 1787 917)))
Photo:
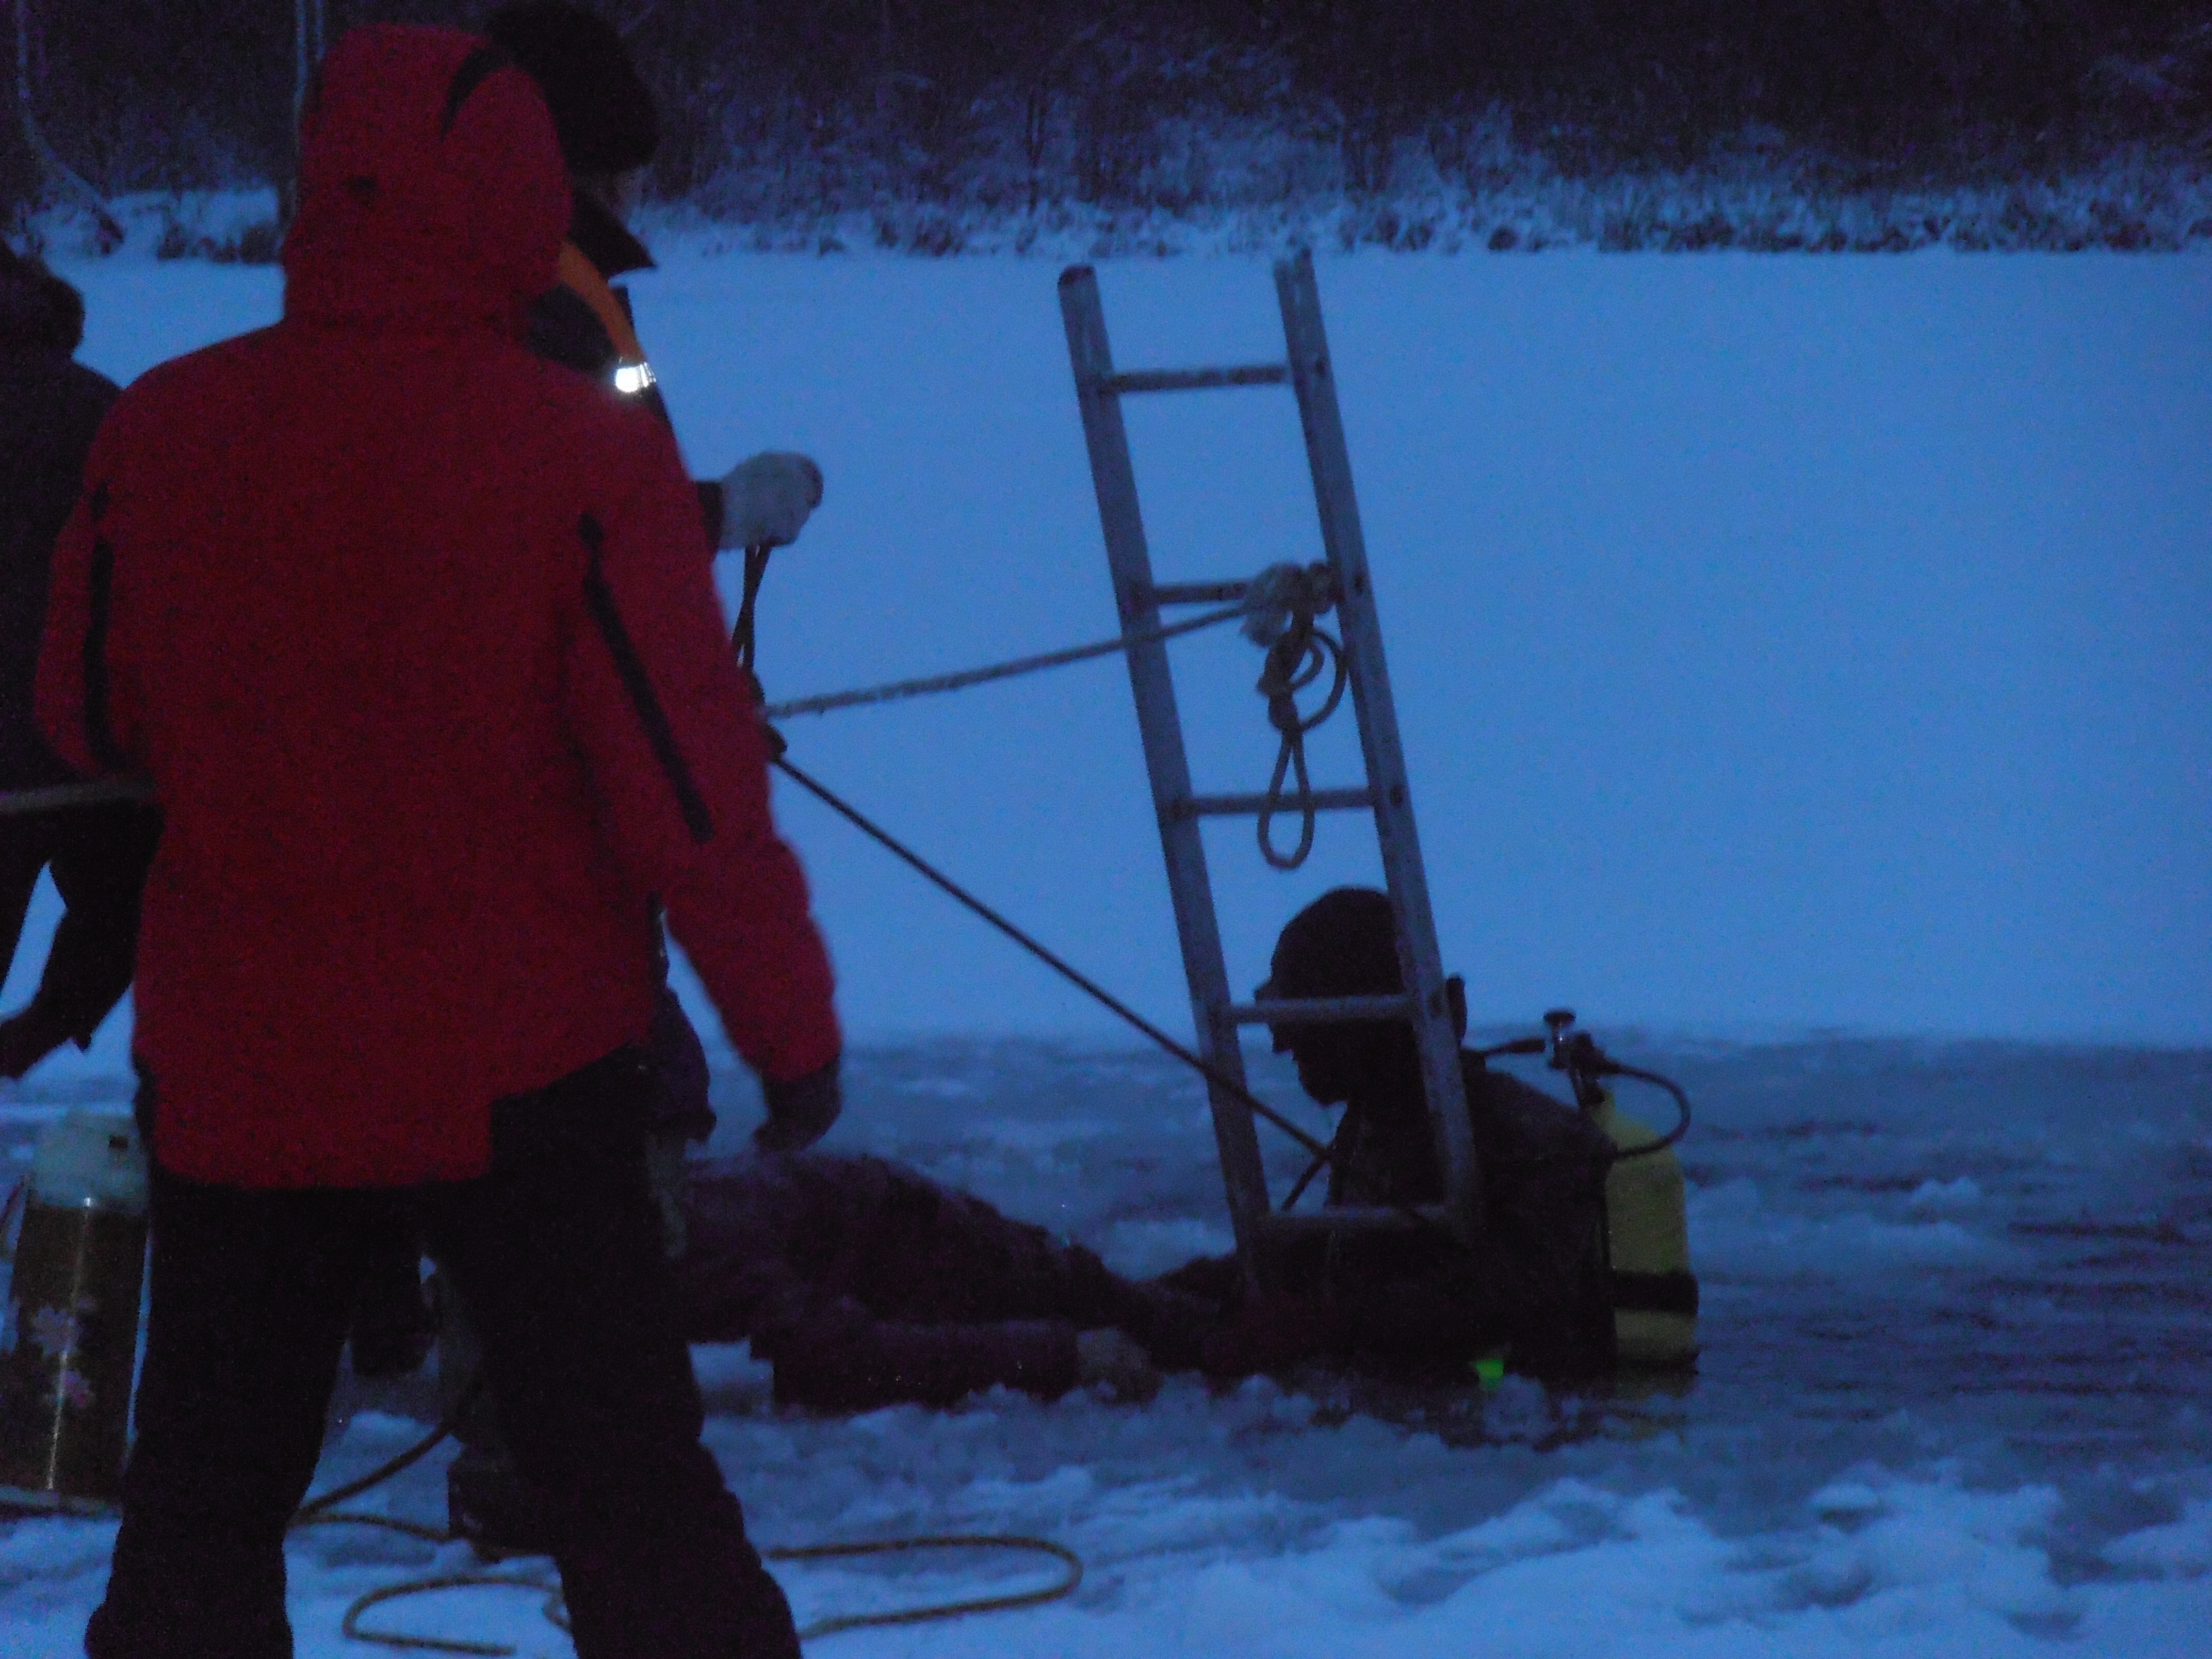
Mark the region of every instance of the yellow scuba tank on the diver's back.
MULTIPOLYGON (((1661 1139, 1624 1113, 1604 1088, 1590 1121, 1635 1152, 1661 1139)), ((1613 1332, 1626 1369, 1672 1371, 1697 1360, 1697 1276, 1681 1159, 1668 1146, 1621 1159, 1606 1175, 1606 1252, 1613 1267, 1613 1332)))

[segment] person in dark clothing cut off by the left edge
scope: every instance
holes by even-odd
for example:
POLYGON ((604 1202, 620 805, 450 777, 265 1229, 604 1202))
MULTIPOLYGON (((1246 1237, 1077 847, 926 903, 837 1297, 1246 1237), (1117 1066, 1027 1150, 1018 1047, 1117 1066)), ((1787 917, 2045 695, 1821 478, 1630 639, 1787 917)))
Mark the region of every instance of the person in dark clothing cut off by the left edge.
MULTIPOLYGON (((31 719, 53 540, 115 385, 73 363, 84 299, 38 259, 0 243, 0 792, 77 783, 31 719)), ((131 989, 139 891, 161 818, 135 801, 0 816, 0 940, 13 960, 42 869, 62 925, 31 1002, 0 1020, 0 1077, 22 1077, 64 1042, 84 1046, 131 989)), ((4 971, 4 969, 0 969, 4 971)))

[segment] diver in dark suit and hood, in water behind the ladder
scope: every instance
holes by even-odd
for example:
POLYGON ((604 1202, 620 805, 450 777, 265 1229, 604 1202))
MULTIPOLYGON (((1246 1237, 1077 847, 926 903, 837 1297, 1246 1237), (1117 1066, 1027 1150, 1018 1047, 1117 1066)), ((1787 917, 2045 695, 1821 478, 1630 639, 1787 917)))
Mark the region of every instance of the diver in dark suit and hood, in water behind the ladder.
MULTIPOLYGON (((1389 898, 1338 887, 1298 911, 1259 998, 1389 995, 1402 989, 1389 898)), ((1464 1009, 1460 1011, 1464 1022, 1464 1009)), ((1327 1203, 1433 1203, 1444 1183, 1420 1057, 1402 1022, 1279 1024, 1298 1084, 1343 1106, 1327 1203)), ((1579 1383, 1613 1369, 1604 1190, 1613 1144, 1582 1113, 1462 1055, 1482 1170, 1482 1234, 1312 1239, 1272 1263, 1276 1294, 1243 1305, 1232 1261, 1199 1261, 1161 1283, 1210 1294, 1228 1325, 1208 1369, 1272 1369, 1334 1356, 1352 1365, 1464 1374, 1509 1349, 1520 1371, 1579 1383)))

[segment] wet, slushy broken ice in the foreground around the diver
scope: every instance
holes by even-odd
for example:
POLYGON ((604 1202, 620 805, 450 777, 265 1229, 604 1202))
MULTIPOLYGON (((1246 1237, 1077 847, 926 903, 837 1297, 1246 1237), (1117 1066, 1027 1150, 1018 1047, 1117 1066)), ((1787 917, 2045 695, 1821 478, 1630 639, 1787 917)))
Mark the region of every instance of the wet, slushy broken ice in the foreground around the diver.
MULTIPOLYGON (((1699 1104, 1694 1387, 1579 1400, 1509 1378, 1453 1398, 1316 1371, 1172 1378, 1146 1409, 1000 1391, 838 1420, 774 1411, 741 1345, 697 1349, 708 1440, 754 1535, 1013 1531, 1084 1555, 1071 1604, 836 1637, 852 1655, 2203 1652, 2212 1055, 1630 1044, 1699 1104)), ((1323 1121, 1279 1060, 1252 1062, 1323 1121)), ((734 1146, 757 1099, 728 1064, 734 1146)), ((15 1091, 0 1144, 29 1141, 44 1097, 38 1077, 15 1091)), ((863 1046, 832 1146, 905 1157, 1133 1272, 1225 1243, 1203 1099, 1157 1055, 863 1046)), ((1298 1164, 1270 1146, 1279 1190, 1298 1164)), ((349 1396, 323 1482, 434 1413, 427 1383, 349 1396)), ((369 1502, 438 1517, 440 1462, 369 1502)), ((9 1655, 75 1652, 111 1535, 0 1528, 9 1655)), ((299 1540, 301 1652, 343 1650, 354 1595, 460 1559, 378 1533, 299 1540)), ((803 1619, 1044 1582, 1020 1559, 779 1571, 803 1619)), ((562 1650, 518 1593, 389 1624, 562 1650)))

